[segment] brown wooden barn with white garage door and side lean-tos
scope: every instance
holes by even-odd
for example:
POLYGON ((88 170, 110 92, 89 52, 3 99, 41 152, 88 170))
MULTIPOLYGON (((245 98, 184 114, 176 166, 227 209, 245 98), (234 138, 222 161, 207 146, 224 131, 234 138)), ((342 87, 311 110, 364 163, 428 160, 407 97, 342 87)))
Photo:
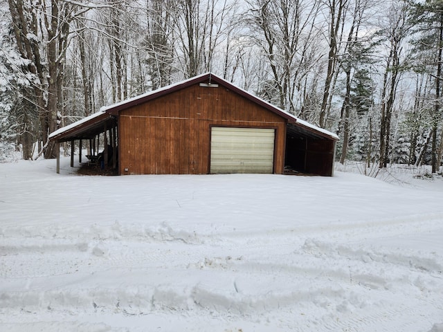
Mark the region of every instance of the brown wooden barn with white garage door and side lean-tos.
POLYGON ((211 73, 103 107, 50 139, 89 141, 94 161, 98 137, 101 166, 120 175, 291 169, 332 176, 338 139, 211 73))

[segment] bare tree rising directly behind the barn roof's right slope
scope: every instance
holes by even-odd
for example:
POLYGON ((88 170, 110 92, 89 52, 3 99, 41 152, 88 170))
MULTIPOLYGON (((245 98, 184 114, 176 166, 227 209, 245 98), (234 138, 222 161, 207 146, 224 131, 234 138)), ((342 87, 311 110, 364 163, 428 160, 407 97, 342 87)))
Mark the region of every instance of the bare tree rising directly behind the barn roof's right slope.
POLYGON ((320 2, 255 0, 248 4, 251 9, 246 23, 269 68, 262 96, 282 109, 300 113, 305 89, 302 82, 322 56, 316 50, 320 44, 320 2))

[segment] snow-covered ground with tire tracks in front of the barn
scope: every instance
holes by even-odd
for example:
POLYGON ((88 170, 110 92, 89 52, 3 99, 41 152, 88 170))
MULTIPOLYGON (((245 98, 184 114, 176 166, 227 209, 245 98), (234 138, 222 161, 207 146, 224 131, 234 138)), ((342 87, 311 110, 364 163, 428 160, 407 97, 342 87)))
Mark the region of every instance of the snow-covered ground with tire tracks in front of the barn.
POLYGON ((443 331, 443 179, 0 164, 0 331, 443 331))

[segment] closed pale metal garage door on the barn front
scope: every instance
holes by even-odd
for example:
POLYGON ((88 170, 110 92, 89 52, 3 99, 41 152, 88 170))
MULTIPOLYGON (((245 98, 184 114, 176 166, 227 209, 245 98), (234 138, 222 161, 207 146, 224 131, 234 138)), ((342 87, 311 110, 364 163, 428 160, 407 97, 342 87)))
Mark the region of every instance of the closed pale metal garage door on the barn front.
POLYGON ((213 127, 210 172, 272 173, 275 129, 213 127))

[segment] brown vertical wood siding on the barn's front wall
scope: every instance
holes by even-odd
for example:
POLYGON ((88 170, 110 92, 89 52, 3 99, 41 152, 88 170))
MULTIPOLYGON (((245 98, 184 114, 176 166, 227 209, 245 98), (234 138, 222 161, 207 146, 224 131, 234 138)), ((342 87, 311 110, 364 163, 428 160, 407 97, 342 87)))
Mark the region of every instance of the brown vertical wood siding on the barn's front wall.
POLYGON ((275 129, 282 174, 287 120, 223 86, 199 84, 120 111, 120 174, 208 174, 210 127, 275 129), (125 171, 127 169, 127 171, 125 171))

